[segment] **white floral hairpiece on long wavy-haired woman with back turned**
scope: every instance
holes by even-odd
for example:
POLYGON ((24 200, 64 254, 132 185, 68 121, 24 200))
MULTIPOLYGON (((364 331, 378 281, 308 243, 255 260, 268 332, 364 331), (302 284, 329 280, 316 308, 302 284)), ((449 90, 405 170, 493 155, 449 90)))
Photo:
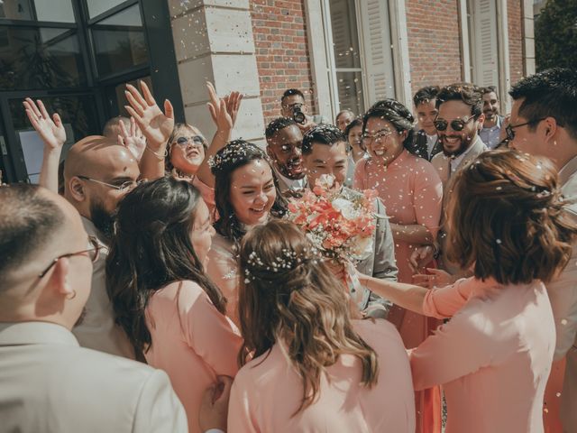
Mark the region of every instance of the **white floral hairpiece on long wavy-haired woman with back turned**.
POLYGON ((296 253, 287 248, 282 249, 282 254, 279 257, 275 257, 271 263, 264 263, 261 257, 257 253, 252 252, 249 254, 249 258, 246 261, 247 265, 244 269, 244 283, 248 284, 251 281, 257 279, 255 276, 259 274, 259 279, 270 280, 269 278, 261 276, 263 273, 272 272, 275 274, 276 278, 279 274, 284 274, 287 272, 294 271, 305 263, 318 263, 321 255, 315 247, 305 248, 302 253, 296 253))

